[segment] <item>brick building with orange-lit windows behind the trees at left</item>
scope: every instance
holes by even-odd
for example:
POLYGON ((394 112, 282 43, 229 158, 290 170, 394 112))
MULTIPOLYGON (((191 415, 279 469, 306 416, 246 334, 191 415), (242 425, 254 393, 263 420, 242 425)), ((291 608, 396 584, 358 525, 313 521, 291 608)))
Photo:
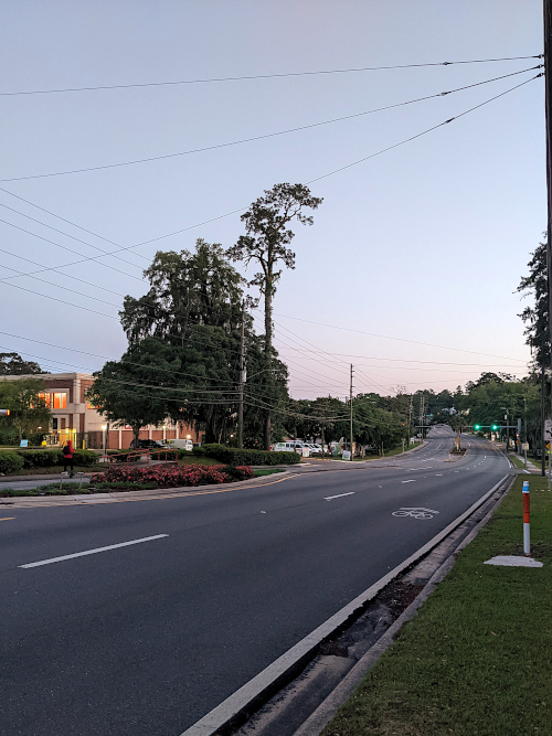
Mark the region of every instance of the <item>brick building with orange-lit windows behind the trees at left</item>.
MULTIPOLYGON (((47 444, 63 445, 67 439, 74 447, 103 447, 104 437, 108 449, 127 449, 134 439, 130 427, 113 427, 86 401, 86 392, 94 383, 89 373, 43 373, 40 375, 7 375, 7 381, 41 378, 45 391, 44 402, 52 413, 47 428, 47 444)), ((46 428, 42 427, 42 431, 46 428)), ((40 431, 40 430, 39 430, 40 431)), ((201 441, 201 433, 182 423, 167 422, 162 426, 147 426, 140 430, 140 439, 183 439, 201 441)))

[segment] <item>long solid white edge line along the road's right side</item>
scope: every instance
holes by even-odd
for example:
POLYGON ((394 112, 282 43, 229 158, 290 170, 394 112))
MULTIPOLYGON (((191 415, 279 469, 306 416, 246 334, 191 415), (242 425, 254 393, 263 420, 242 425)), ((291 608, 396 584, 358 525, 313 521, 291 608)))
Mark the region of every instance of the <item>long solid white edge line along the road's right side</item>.
MULTIPOLYGON (((508 473, 509 474, 509 473, 508 473)), ((180 736, 215 736, 216 732, 243 711, 254 698, 258 697, 267 687, 269 687, 278 678, 283 676, 291 666, 297 664, 304 657, 306 657, 315 647, 330 636, 338 627, 346 623, 351 616, 361 606, 367 604, 384 588, 394 577, 396 577, 403 569, 410 567, 420 557, 425 555, 429 550, 436 546, 442 540, 447 536, 454 529, 459 526, 465 519, 474 513, 487 499, 500 488, 500 486, 508 478, 503 476, 498 483, 496 483, 490 491, 487 491, 478 501, 469 506, 467 511, 455 519, 448 526, 436 534, 429 542, 426 542, 417 552, 411 555, 407 559, 397 565, 390 573, 374 583, 368 590, 357 596, 350 604, 347 604, 341 610, 331 616, 327 621, 321 623, 317 629, 307 634, 304 639, 297 642, 282 657, 278 657, 272 664, 265 668, 262 672, 255 675, 240 690, 230 695, 220 705, 214 707, 210 713, 203 716, 200 721, 187 728, 180 736)))

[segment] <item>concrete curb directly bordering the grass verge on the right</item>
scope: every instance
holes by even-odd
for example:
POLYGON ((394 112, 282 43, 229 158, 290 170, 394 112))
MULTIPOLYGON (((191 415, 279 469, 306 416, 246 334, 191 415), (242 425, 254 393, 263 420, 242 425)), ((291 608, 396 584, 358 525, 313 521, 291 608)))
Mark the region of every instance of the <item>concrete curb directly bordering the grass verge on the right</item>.
POLYGON ((484 519, 471 530, 471 532, 460 542, 456 550, 445 559, 427 582, 424 589, 420 593, 416 599, 401 614, 401 616, 392 623, 385 633, 376 641, 376 643, 369 649, 369 651, 357 662, 357 664, 348 672, 339 685, 328 695, 328 697, 317 707, 317 710, 305 721, 294 734, 294 736, 319 736, 327 724, 333 718, 338 710, 344 705, 349 697, 353 694, 357 687, 361 684, 368 672, 378 663, 381 655, 391 647, 396 634, 402 627, 414 618, 417 609, 427 600, 432 593, 437 587, 446 575, 454 567, 456 557, 467 547, 467 545, 475 540, 481 529, 488 523, 498 506, 502 503, 506 494, 513 486, 516 476, 511 477, 508 488, 501 493, 500 498, 492 504, 492 508, 484 516, 484 519))

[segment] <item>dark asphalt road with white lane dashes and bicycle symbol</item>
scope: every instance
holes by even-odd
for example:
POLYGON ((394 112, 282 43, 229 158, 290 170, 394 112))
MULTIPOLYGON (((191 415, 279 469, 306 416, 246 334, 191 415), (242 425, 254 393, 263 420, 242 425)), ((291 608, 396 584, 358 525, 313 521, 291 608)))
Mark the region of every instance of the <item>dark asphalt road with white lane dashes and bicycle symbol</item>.
POLYGON ((509 471, 474 438, 450 462, 452 442, 434 429, 402 458, 205 495, 2 509, 0 733, 179 736, 509 471))

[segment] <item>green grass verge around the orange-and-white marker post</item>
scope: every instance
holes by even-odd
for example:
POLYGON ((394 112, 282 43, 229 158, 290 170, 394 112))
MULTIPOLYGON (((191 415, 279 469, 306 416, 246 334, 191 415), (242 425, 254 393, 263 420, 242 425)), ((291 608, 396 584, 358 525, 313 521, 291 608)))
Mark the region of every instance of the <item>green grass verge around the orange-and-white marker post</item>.
POLYGON ((522 554, 521 484, 322 736, 552 734, 552 500, 530 479, 540 569, 484 565, 522 554))

